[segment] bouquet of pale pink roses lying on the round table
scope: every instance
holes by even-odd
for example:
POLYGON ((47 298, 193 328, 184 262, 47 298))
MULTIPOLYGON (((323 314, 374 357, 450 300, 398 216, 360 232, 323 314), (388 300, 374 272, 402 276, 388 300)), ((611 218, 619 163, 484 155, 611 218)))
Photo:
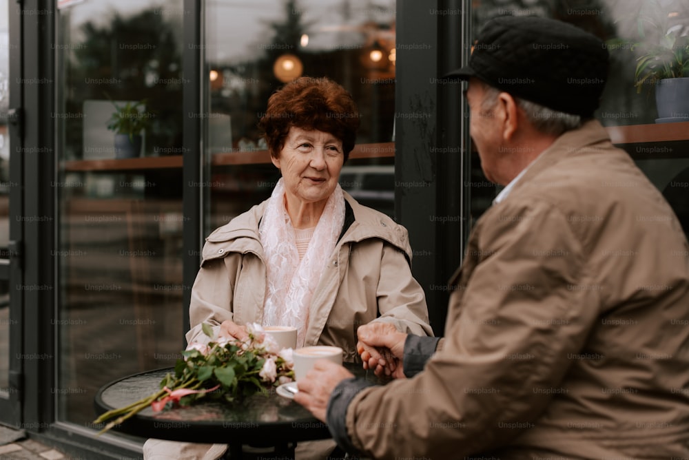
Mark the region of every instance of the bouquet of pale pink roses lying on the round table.
POLYGON ((148 406, 159 412, 175 404, 189 406, 200 399, 232 402, 254 393, 267 393, 269 386, 294 379, 292 349, 280 350, 259 324, 247 324, 249 337, 245 340, 218 339, 211 326, 204 323, 202 328, 211 342, 189 344, 177 360, 174 375, 165 375, 156 393, 94 420, 94 424, 108 422, 99 435, 148 406))

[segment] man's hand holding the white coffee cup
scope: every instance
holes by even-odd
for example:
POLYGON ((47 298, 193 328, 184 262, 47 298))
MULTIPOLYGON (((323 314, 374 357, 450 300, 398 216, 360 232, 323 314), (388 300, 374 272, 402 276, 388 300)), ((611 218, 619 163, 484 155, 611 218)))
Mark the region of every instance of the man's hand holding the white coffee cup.
POLYGON ((294 395, 294 400, 307 408, 313 417, 325 422, 330 395, 340 381, 351 377, 354 375, 344 367, 318 359, 306 377, 298 382, 299 393, 294 395))

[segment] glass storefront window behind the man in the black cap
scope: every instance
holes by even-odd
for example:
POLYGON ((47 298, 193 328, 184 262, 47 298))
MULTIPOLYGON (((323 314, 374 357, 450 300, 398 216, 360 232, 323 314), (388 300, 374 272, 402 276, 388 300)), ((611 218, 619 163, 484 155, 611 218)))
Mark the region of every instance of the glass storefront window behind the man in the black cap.
MULTIPOLYGON (((659 43, 665 43, 664 46, 689 62, 688 3, 681 0, 475 0, 473 6, 473 36, 493 17, 533 14, 572 23, 604 40, 610 53, 610 74, 595 117, 608 129, 613 143, 624 148, 664 194, 689 233, 686 193, 689 110, 675 110, 670 113, 671 118, 662 116, 655 101, 655 79, 643 81, 635 74, 637 58, 659 43), (640 35, 639 30, 644 30, 644 34, 640 35), (661 41, 668 32, 673 39, 677 37, 669 45, 661 41), (682 50, 685 50, 683 54, 682 50)), ((475 151, 471 165, 471 220, 475 221, 491 206, 501 187, 483 176, 475 151)))

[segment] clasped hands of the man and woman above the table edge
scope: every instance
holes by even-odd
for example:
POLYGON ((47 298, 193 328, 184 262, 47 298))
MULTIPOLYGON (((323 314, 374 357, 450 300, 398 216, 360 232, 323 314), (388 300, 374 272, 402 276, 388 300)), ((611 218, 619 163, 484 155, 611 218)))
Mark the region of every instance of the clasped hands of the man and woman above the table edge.
POLYGON ((359 339, 356 349, 364 362, 364 369, 373 369, 378 377, 405 378, 402 359, 407 334, 392 324, 372 322, 358 328, 356 335, 359 339))

